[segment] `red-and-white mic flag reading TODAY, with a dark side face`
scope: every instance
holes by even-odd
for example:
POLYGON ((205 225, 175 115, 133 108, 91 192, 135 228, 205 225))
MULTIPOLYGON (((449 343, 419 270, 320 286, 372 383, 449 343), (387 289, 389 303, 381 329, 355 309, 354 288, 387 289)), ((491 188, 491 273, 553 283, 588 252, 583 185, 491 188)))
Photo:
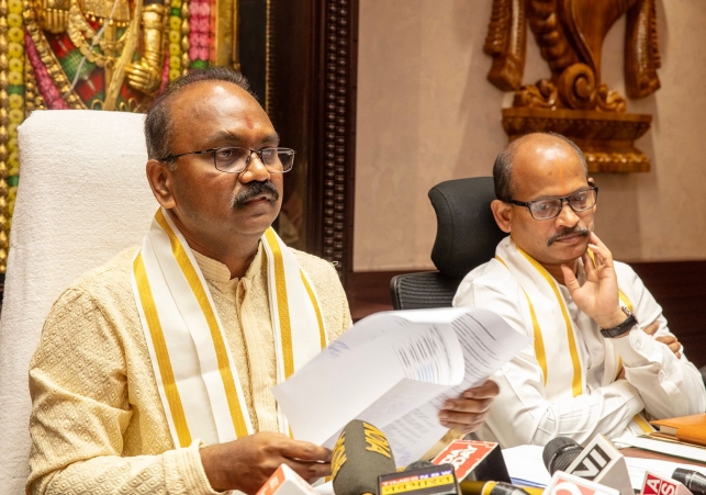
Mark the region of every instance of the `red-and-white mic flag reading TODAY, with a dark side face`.
POLYGON ((446 446, 432 462, 437 465, 451 464, 459 481, 511 483, 500 446, 491 441, 455 440, 446 446))

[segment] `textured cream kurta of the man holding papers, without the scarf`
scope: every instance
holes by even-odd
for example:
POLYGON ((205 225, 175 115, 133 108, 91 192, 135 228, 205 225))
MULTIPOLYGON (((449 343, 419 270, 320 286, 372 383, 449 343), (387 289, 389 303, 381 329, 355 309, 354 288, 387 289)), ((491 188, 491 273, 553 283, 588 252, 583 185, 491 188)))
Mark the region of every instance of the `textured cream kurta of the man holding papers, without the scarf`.
MULTIPOLYGON (((30 369, 31 492, 213 493, 198 441, 175 449, 131 285, 128 249, 55 303, 30 369)), ((294 251, 318 294, 329 340, 351 325, 346 294, 326 261, 294 251)), ((267 258, 243 279, 194 252, 236 363, 253 426, 278 431, 267 258)))

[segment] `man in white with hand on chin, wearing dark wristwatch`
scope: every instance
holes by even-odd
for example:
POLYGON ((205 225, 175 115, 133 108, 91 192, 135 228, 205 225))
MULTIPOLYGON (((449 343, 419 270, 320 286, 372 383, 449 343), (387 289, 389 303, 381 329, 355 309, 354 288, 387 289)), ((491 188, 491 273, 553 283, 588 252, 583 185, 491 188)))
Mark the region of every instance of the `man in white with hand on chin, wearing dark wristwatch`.
POLYGON ((529 134, 497 156, 493 178, 491 209, 509 236, 463 279, 453 305, 491 310, 534 344, 493 378, 500 395, 479 437, 585 442, 703 413, 704 382, 662 308, 593 233, 598 189, 581 150, 529 134))

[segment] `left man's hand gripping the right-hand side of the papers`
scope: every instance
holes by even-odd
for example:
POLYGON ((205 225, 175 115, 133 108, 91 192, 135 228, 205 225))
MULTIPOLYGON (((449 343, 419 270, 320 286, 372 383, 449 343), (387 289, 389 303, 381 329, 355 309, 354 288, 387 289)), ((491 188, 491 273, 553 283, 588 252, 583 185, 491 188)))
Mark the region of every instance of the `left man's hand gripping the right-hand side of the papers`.
POLYGON ((475 431, 481 427, 493 397, 500 389, 491 380, 481 386, 469 389, 459 398, 449 398, 439 412, 439 420, 447 428, 452 428, 463 435, 475 431))

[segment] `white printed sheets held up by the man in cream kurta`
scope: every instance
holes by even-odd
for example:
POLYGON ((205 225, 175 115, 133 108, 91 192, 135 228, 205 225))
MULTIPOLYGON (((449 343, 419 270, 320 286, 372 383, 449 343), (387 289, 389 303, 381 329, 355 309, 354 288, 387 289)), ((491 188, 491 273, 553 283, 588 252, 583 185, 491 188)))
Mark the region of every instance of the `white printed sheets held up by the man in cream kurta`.
POLYGON ((530 341, 486 310, 377 313, 272 393, 296 439, 333 448, 348 421, 362 419, 406 465, 446 434, 444 402, 482 384, 530 341))

